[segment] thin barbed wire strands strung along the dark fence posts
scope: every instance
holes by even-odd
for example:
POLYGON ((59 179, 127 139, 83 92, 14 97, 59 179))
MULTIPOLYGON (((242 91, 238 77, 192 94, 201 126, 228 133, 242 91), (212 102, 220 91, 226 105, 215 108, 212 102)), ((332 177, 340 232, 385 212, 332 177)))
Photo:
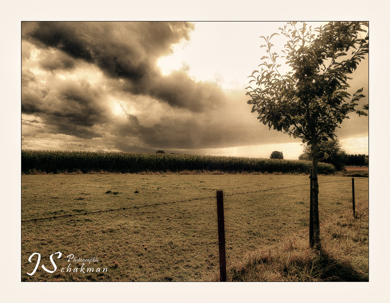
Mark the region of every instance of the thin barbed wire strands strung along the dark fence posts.
MULTIPOLYGON (((359 179, 367 179, 367 178, 353 178, 353 179, 359 180, 359 179)), ((351 181, 353 179, 338 180, 338 181, 327 181, 327 182, 322 182, 322 183, 318 183, 318 184, 345 182, 345 181, 351 181)), ((234 195, 250 194, 250 193, 260 193, 260 192, 273 191, 273 190, 283 190, 283 189, 287 189, 287 188, 296 188, 296 187, 308 186, 308 185, 310 185, 310 183, 294 185, 294 186, 284 186, 284 187, 280 187, 280 188, 270 188, 270 189, 266 189, 266 190, 246 191, 246 192, 240 192, 240 193, 225 194, 225 195, 223 195, 223 197, 229 197, 229 196, 234 196, 234 195)), ((117 208, 117 209, 106 209, 106 210, 90 211, 90 212, 85 212, 85 213, 66 214, 66 215, 61 215, 61 216, 51 216, 51 217, 44 217, 44 218, 32 218, 32 219, 28 219, 28 220, 21 220, 21 223, 26 223, 26 222, 31 222, 31 221, 37 222, 37 221, 42 221, 42 220, 59 219, 59 218, 66 218, 66 217, 71 217, 71 216, 81 216, 81 215, 87 215, 87 214, 95 214, 95 215, 97 215, 97 214, 106 213, 106 212, 124 211, 124 210, 129 210, 129 209, 140 209, 140 208, 144 208, 144 207, 161 206, 161 205, 176 204, 176 203, 182 203, 182 202, 191 202, 191 201, 195 201, 195 200, 204 200, 204 199, 210 199, 210 198, 216 198, 216 197, 217 196, 200 197, 200 198, 193 198, 193 199, 180 200, 180 201, 162 202, 162 203, 146 204, 146 205, 136 205, 136 206, 132 206, 132 207, 121 207, 121 208, 117 208)), ((304 200, 301 200, 300 202, 307 202, 308 200, 309 199, 304 199, 304 200)), ((274 227, 272 229, 268 228, 267 232, 272 231, 272 230, 284 229, 285 227, 293 227, 294 225, 296 225, 296 223, 283 225, 283 226, 278 226, 278 227, 274 227)), ((323 228, 325 228, 325 226, 323 228)), ((177 231, 181 231, 181 230, 177 230, 177 231)), ((182 231, 184 231, 184 230, 182 230, 182 231)), ((253 236, 259 236, 260 234, 261 234, 260 232, 252 232, 253 236)), ((144 276, 152 275, 152 274, 154 274, 154 273, 156 273, 158 271, 161 271, 163 269, 169 268, 170 266, 179 264, 179 263, 184 262, 184 261, 189 260, 189 259, 197 258, 197 257, 203 255, 206 252, 210 252, 213 248, 215 248, 218 245, 228 245, 228 244, 231 244, 231 243, 236 243, 238 241, 243 241, 243 239, 245 239, 245 238, 248 238, 248 235, 243 235, 243 236, 238 237, 237 239, 234 239, 234 240, 225 241, 225 243, 218 243, 218 242, 217 243, 211 243, 210 246, 207 246, 207 248, 205 250, 202 250, 201 252, 197 252, 197 253, 191 255, 190 257, 186 257, 186 258, 178 260, 176 262, 170 262, 169 264, 166 264, 165 266, 162 266, 160 268, 154 269, 152 271, 148 271, 147 273, 144 273, 143 275, 137 276, 137 277, 133 278, 132 280, 133 281, 137 281, 140 278, 143 278, 144 276)), ((285 245, 285 244, 287 244, 289 242, 291 242, 291 240, 288 240, 288 241, 280 244, 280 241, 279 241, 278 245, 273 246, 271 248, 267 248, 264 252, 262 252, 260 254, 257 253, 257 256, 262 255, 262 254, 267 253, 267 252, 270 252, 272 250, 275 250, 275 249, 277 249, 277 248, 279 248, 279 247, 281 247, 281 246, 283 246, 283 245, 285 245)), ((101 250, 101 251, 98 251, 98 252, 106 252, 106 251, 105 250, 101 250)), ((239 262, 242 263, 242 262, 250 260, 252 258, 253 258, 253 256, 250 255, 249 257, 245 257, 244 259, 239 259, 239 260, 232 261, 232 262, 230 262, 227 265, 231 267, 233 264, 237 264, 239 262)), ((201 281, 201 280, 203 280, 207 276, 209 276, 209 280, 210 280, 212 274, 218 275, 218 271, 220 270, 218 265, 217 264, 213 264, 213 267, 217 267, 215 270, 208 271, 206 273, 206 275, 202 275, 202 276, 194 279, 194 281, 201 281)), ((178 274, 178 273, 181 273, 181 270, 177 271, 175 274, 178 274)), ((193 273, 193 275, 194 274, 199 276, 198 273, 193 273)), ((191 275, 190 278, 193 275, 191 275)))

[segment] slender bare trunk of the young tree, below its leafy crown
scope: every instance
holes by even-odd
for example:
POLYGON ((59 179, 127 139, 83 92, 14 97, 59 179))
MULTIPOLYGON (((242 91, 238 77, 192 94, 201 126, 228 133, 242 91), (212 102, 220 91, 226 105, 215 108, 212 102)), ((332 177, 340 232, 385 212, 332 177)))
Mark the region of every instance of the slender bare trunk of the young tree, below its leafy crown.
POLYGON ((313 192, 313 241, 310 247, 316 250, 321 250, 321 238, 319 234, 319 212, 318 212, 318 173, 317 173, 317 140, 310 142, 312 145, 312 192, 313 192))

